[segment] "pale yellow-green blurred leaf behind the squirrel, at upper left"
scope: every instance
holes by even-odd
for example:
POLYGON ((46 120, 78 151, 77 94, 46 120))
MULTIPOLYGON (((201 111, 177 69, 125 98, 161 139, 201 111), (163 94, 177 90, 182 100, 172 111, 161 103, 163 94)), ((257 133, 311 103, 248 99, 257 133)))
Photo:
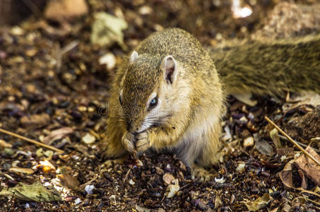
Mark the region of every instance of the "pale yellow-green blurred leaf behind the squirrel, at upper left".
POLYGON ((122 49, 126 49, 124 34, 122 33, 122 30, 126 28, 128 28, 128 23, 122 18, 104 12, 96 13, 90 37, 91 42, 107 47, 117 42, 122 49))

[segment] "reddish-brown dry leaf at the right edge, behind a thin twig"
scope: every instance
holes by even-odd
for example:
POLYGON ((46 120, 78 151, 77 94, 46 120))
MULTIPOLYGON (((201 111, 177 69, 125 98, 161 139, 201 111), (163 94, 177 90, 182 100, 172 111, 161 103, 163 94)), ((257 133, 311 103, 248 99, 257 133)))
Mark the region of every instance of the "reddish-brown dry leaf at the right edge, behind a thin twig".
MULTIPOLYGON (((306 149, 307 153, 312 155, 316 160, 320 161, 320 156, 314 151, 313 148, 308 146, 306 149)), ((315 184, 320 184, 320 166, 314 163, 312 159, 307 157, 307 155, 300 155, 297 160, 295 160, 295 165, 304 172, 309 179, 315 184)))

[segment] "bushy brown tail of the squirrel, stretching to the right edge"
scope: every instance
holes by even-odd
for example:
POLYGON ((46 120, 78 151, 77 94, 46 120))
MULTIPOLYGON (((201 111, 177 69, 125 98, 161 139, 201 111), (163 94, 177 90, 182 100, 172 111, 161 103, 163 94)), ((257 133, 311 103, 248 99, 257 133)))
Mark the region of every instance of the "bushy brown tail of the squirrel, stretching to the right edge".
POLYGON ((227 93, 320 93, 320 35, 273 42, 249 41, 212 49, 227 93))

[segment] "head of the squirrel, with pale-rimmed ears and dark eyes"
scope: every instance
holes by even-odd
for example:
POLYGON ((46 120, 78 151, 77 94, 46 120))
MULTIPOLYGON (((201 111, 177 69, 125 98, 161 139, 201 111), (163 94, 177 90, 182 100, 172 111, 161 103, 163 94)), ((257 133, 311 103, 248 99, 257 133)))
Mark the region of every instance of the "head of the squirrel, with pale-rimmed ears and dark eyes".
POLYGON ((172 115, 172 100, 168 99, 177 89, 178 72, 171 55, 131 54, 119 93, 128 131, 145 131, 172 115))

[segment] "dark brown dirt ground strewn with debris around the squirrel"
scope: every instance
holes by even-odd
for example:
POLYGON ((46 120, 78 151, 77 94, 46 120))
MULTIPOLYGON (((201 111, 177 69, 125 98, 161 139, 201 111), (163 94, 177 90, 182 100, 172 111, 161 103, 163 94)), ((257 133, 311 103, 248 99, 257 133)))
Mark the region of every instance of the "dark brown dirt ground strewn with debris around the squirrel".
MULTIPOLYGON (((279 4, 245 1, 251 16, 234 18, 231 2, 88 0, 88 12, 80 18, 61 21, 34 13, 18 25, 1 28, 0 128, 60 148, 64 154, 0 133, 0 191, 40 181, 61 196, 50 202, 2 196, 0 211, 249 211, 247 205, 261 196, 266 201, 260 202, 259 211, 320 211, 320 189, 314 180, 292 167, 292 187, 304 187, 308 193, 286 187, 280 178, 285 165, 301 152, 283 136, 280 147, 275 146, 273 128, 264 116, 304 148, 313 141, 311 146, 319 150, 314 138, 320 136, 320 108, 308 102, 294 105, 297 102, 288 102, 286 94, 255 97, 252 107, 228 98, 225 156, 212 167, 215 180, 193 179, 189 167, 165 153, 103 165, 100 141, 107 127, 103 109, 117 69, 107 69, 100 58, 112 53, 119 64, 150 33, 167 27, 188 30, 206 47, 249 37, 263 27, 268 30, 268 15, 279 4), (91 44, 98 11, 126 20, 125 47, 91 44), (178 180, 179 192, 171 198, 164 176, 178 180)), ((316 1, 295 2, 308 6, 316 1)), ((299 34, 314 31, 306 27, 299 34)))

